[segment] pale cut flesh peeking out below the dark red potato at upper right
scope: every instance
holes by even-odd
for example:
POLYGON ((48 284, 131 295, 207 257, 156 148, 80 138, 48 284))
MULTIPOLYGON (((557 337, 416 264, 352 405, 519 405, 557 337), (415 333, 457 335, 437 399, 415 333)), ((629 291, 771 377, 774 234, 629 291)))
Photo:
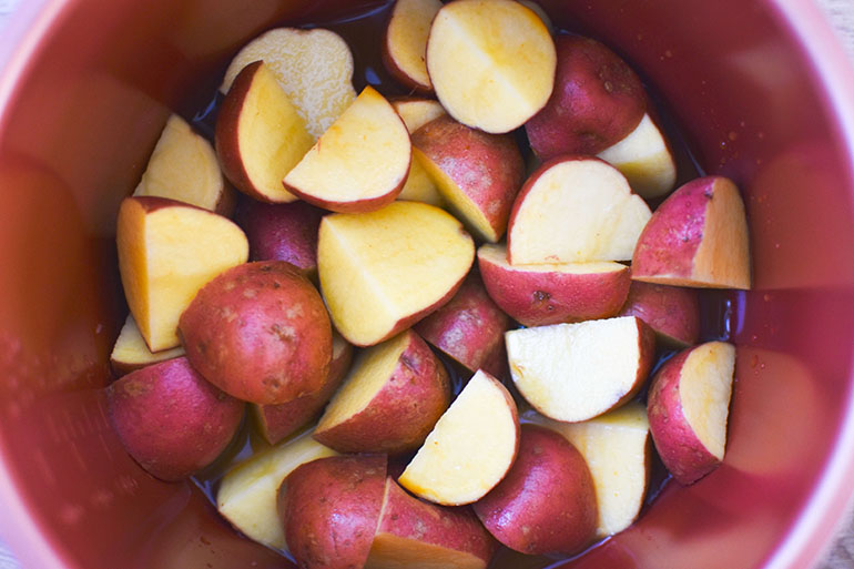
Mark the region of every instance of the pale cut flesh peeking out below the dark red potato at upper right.
POLYGON ((649 114, 623 140, 599 153, 622 172, 631 189, 647 200, 659 197, 677 183, 677 164, 664 135, 649 114))

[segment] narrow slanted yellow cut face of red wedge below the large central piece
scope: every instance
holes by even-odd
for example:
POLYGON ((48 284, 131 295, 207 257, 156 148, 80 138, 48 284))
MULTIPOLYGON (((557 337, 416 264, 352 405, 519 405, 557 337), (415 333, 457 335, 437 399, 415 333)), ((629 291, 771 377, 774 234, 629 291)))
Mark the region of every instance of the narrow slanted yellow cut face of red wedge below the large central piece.
POLYGON ((400 354, 408 344, 408 336, 398 334, 362 352, 344 385, 326 406, 317 429, 331 429, 364 410, 392 377, 400 354))

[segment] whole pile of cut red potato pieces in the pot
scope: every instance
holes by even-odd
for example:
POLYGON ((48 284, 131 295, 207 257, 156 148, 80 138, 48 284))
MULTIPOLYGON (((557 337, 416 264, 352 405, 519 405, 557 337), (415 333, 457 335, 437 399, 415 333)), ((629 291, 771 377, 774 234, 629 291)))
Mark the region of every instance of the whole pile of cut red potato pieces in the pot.
POLYGON ((272 30, 215 149, 170 118, 118 219, 111 418, 180 480, 248 404, 271 446, 217 508, 301 567, 572 555, 637 518, 651 441, 681 484, 723 459, 735 349, 695 345, 692 288, 750 286, 739 191, 670 193, 638 77, 531 2, 397 0, 383 61, 419 96, 357 95, 338 35, 272 30), (657 344, 682 350, 644 405, 657 344), (456 397, 436 352, 472 374, 456 397))

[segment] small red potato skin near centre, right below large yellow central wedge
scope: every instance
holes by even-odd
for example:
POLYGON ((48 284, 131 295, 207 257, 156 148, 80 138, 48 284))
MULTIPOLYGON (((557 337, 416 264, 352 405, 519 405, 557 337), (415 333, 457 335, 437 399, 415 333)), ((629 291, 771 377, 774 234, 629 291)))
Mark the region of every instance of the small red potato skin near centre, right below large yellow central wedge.
POLYGON ((510 318, 492 302, 476 273, 462 282, 448 304, 415 325, 420 336, 470 372, 501 376, 506 366, 504 333, 510 318))

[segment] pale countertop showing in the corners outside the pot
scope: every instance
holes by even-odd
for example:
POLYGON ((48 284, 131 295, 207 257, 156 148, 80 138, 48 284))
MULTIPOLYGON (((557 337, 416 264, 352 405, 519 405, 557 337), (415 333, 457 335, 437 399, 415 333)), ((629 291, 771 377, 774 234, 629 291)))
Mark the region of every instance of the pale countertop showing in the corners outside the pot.
MULTIPOLYGON (((16 4, 26 0, 0 0, 0 33, 16 4)), ((848 55, 854 62, 854 0, 816 0, 836 29, 848 55)), ((1 539, 1 538, 0 538, 1 539)), ((825 559, 815 569, 854 568, 854 512, 840 528, 838 536, 825 559)), ((0 569, 20 569, 13 555, 0 540, 0 569)))

